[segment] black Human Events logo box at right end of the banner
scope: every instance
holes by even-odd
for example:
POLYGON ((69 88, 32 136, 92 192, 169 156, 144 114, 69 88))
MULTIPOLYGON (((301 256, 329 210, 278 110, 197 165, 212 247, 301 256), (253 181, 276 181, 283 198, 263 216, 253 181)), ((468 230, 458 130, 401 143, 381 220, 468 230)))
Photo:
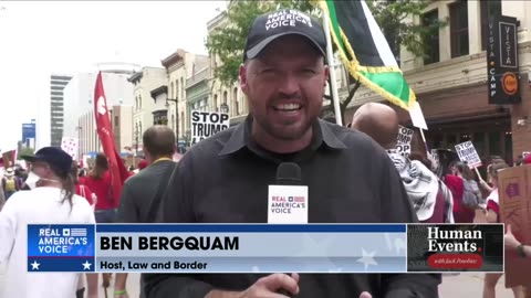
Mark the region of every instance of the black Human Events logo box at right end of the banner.
POLYGON ((408 226, 408 270, 502 272, 502 225, 408 226))

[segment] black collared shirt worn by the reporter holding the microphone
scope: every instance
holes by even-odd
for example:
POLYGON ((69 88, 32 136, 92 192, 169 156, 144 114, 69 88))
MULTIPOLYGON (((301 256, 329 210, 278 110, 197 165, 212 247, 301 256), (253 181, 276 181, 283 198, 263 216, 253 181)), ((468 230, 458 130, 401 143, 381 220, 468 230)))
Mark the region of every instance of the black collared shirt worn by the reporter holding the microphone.
MULTIPOLYGON (((272 153, 252 140, 252 118, 197 143, 179 161, 164 199, 165 223, 267 223, 268 187, 282 161, 309 187, 310 223, 410 223, 416 215, 387 153, 369 137, 319 120, 311 145, 272 153)), ((244 290, 262 275, 144 275, 148 297, 202 298, 244 290)), ((437 297, 439 275, 301 275, 303 298, 437 297), (420 296, 412 296, 414 292, 420 296)))

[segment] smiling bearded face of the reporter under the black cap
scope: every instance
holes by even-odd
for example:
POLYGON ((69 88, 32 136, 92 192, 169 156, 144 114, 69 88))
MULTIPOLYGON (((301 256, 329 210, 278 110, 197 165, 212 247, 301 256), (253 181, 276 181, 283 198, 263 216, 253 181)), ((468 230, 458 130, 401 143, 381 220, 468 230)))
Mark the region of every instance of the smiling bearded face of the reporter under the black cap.
POLYGON ((311 129, 327 75, 322 55, 299 35, 279 38, 240 67, 241 89, 256 124, 279 140, 296 140, 311 129))

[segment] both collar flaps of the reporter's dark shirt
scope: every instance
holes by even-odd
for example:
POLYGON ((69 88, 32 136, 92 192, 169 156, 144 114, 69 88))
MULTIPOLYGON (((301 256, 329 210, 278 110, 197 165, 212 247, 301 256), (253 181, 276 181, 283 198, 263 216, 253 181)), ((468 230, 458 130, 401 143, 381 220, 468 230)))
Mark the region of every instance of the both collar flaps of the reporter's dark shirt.
MULTIPOLYGON (((252 125, 252 116, 247 116, 246 120, 239 124, 232 135, 230 136, 229 140, 225 143, 223 149, 219 152, 220 156, 231 155, 235 153, 242 148, 249 145, 249 138, 251 136, 251 125, 252 125)), ((316 138, 314 137, 312 140, 312 147, 319 148, 322 142, 324 142, 327 147, 333 149, 346 149, 345 143, 337 138, 335 132, 332 130, 332 125, 319 119, 314 124, 314 134, 319 134, 316 138), (313 142, 316 143, 313 143, 313 142)))

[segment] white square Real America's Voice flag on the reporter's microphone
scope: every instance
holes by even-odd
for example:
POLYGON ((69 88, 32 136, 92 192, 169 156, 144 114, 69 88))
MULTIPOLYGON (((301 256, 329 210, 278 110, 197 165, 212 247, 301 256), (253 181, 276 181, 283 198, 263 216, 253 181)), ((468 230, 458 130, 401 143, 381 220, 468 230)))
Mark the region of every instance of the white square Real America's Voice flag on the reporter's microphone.
POLYGON ((268 223, 308 224, 308 187, 269 185, 268 223))

